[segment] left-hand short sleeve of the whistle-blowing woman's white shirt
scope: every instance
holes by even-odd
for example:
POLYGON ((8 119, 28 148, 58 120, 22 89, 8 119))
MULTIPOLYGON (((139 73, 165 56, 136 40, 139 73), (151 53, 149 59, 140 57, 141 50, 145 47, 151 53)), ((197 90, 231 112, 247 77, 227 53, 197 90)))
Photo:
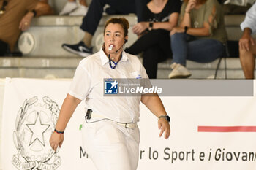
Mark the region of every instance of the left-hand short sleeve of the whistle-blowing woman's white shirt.
POLYGON ((80 100, 86 98, 91 89, 91 76, 83 66, 78 66, 69 88, 69 95, 80 100))

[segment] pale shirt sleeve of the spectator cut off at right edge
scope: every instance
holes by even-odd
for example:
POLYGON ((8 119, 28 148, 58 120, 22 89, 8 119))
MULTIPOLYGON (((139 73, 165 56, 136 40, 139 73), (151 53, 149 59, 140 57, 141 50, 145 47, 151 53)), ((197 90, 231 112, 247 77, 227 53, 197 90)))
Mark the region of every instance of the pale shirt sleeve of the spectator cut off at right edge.
POLYGON ((252 34, 256 34, 256 2, 246 12, 245 19, 240 26, 242 31, 244 31, 244 28, 251 28, 252 34))

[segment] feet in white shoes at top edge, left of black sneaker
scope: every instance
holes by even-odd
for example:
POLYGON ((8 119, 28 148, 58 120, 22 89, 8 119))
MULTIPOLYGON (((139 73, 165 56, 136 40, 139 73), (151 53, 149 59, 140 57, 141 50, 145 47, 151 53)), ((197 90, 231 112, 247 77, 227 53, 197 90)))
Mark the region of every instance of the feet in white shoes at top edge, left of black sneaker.
POLYGON ((86 15, 88 11, 86 0, 79 0, 79 4, 77 4, 76 0, 68 0, 59 15, 86 15))

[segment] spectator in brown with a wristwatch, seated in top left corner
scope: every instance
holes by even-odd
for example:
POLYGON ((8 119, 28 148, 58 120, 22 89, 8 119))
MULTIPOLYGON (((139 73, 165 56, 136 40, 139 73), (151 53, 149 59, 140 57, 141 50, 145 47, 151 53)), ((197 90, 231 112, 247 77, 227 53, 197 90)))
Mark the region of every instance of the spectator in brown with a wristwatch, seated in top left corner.
POLYGON ((12 52, 21 31, 29 29, 31 19, 52 14, 53 10, 37 0, 0 0, 0 55, 12 52))

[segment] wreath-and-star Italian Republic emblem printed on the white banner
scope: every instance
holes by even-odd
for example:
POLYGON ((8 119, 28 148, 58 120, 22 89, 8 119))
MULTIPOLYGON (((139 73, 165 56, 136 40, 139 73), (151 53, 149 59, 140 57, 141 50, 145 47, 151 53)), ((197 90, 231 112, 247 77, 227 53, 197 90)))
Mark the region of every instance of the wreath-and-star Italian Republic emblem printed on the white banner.
POLYGON ((55 170, 61 158, 52 150, 49 139, 59 116, 58 104, 48 96, 26 99, 16 117, 13 142, 18 151, 12 164, 19 170, 55 170))

